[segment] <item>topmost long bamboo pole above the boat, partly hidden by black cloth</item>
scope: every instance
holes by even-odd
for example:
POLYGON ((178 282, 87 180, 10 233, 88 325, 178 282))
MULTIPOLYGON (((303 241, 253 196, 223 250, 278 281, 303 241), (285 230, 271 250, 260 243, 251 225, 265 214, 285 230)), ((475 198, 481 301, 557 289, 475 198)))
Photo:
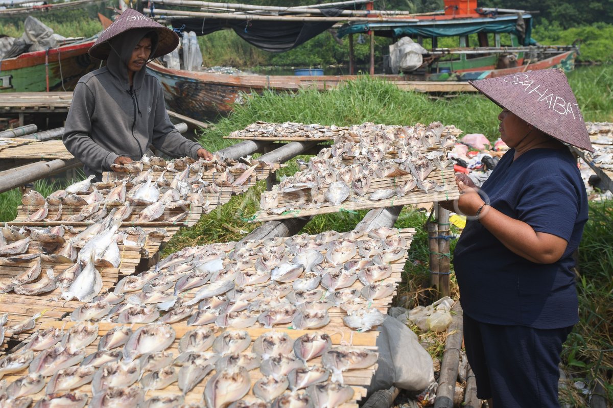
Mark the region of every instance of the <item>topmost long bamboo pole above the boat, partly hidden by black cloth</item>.
MULTIPOLYGON (((168 4, 170 6, 201 7, 202 10, 224 10, 224 11, 252 11, 252 12, 278 12, 278 13, 305 13, 322 14, 321 9, 314 7, 278 7, 278 6, 254 6, 242 3, 219 3, 200 0, 159 0, 158 4, 168 4)), ((404 10, 343 10, 340 15, 359 16, 359 15, 411 15, 404 10)))

